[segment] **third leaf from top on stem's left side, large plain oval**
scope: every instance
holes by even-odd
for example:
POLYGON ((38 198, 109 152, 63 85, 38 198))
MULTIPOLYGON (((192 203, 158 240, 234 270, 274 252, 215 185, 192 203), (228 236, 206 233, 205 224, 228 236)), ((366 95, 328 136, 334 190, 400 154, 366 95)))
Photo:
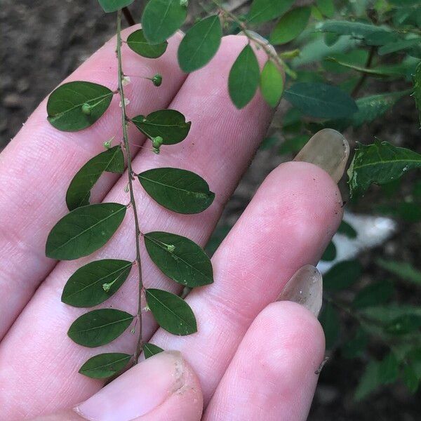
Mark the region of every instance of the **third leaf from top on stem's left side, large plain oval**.
POLYGON ((120 226, 126 206, 98 203, 67 213, 48 234, 46 256, 73 260, 90 255, 104 246, 120 226))

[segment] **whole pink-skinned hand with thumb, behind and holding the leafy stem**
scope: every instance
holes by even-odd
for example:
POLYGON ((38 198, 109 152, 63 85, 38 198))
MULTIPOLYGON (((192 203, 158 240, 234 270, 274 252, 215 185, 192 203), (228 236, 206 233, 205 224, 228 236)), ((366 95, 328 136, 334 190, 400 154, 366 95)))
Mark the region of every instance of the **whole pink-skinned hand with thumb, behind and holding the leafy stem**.
MULTIPOLYGON (((123 39, 131 31, 123 32, 123 39)), ((215 58, 188 76, 177 65, 180 39, 175 34, 157 60, 140 58, 123 46, 123 69, 131 76, 125 87, 128 114, 170 107, 192 121, 187 139, 162 147, 158 156, 139 148, 145 138, 131 127, 133 169, 195 171, 208 181, 215 201, 198 215, 179 215, 149 199, 140 185, 135 185, 135 197, 142 232, 175 232, 203 246, 273 110, 259 94, 241 110, 229 99, 229 68, 246 45, 245 37, 222 39, 215 58), (156 73, 163 76, 159 88, 138 77, 156 73)), ((112 39, 67 81, 115 89, 114 49, 112 39)), ((263 65, 265 54, 257 54, 263 65)), ((174 352, 139 363, 104 389, 103 382, 77 373, 95 354, 133 353, 135 347, 130 329, 104 347, 74 344, 67 329, 85 310, 60 302, 62 287, 81 265, 99 258, 134 260, 132 213, 112 240, 88 258, 55 262, 44 255, 49 230, 67 213, 70 180, 103 150, 105 140, 121 136, 118 102, 114 98, 91 128, 63 133, 46 120, 44 100, 0 154, 0 420, 305 420, 318 377, 314 371, 323 359, 323 331, 305 307, 276 300, 300 267, 316 264, 342 218, 337 180, 312 163, 284 163, 262 182, 213 256, 215 282, 186 299, 196 315, 197 333, 170 335, 156 329, 146 314, 144 339, 174 352), (76 405, 83 418, 72 410, 76 405), (104 412, 92 413, 98 408, 104 412)), ((127 174, 106 174, 92 201, 128 203, 126 184, 127 174)), ((180 292, 143 248, 141 258, 148 288, 180 292)), ((137 282, 133 271, 105 306, 135 314, 137 282)))

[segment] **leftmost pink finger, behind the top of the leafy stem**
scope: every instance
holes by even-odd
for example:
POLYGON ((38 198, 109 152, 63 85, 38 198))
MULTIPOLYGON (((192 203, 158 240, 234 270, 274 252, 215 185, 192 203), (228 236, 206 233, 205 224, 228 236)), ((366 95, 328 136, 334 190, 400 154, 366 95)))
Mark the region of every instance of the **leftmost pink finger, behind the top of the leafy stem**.
MULTIPOLYGON (((132 31, 127 29, 123 35, 132 31)), ((93 81, 114 91, 115 43, 115 39, 107 42, 66 81, 93 81)), ((173 99, 185 79, 177 62, 179 43, 180 34, 169 40, 166 53, 157 60, 141 58, 124 47, 124 71, 132 75, 126 86, 131 116, 164 108, 173 99), (159 88, 139 77, 156 73, 163 75, 159 88)), ((76 133, 58 131, 48 123, 44 100, 0 155, 0 339, 55 265, 44 248, 51 223, 67 212, 64 198, 70 180, 83 163, 104 150, 103 142, 113 136, 114 144, 120 142, 118 96, 97 123, 76 133)), ((138 133, 131 128, 131 139, 140 145, 145 139, 138 133)), ((100 201, 116 178, 116 174, 105 175, 93 191, 93 200, 100 201)))

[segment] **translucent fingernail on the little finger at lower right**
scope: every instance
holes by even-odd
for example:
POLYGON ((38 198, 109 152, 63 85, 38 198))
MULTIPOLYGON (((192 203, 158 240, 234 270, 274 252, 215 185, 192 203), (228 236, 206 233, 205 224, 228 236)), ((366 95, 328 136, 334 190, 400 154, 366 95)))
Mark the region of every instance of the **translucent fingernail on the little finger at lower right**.
POLYGON ((286 283, 278 301, 298 302, 309 309, 314 316, 319 316, 323 298, 323 280, 319 270, 307 265, 298 269, 286 283))

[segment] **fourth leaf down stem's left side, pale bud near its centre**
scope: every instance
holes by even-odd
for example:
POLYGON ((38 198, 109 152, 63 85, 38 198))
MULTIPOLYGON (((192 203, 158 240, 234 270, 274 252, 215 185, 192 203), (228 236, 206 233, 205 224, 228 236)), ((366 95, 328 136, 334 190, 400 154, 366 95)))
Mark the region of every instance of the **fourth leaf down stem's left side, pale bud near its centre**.
POLYGON ((111 297, 126 281, 133 266, 127 260, 96 260, 70 276, 62 302, 74 307, 93 307, 111 297))

